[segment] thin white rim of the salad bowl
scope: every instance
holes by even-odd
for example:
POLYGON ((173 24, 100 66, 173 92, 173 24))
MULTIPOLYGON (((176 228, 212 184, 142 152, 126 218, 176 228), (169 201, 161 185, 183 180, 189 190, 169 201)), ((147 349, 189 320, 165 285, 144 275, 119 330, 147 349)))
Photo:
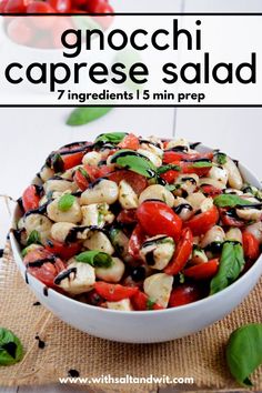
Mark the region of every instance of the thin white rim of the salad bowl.
MULTIPOLYGON (((214 150, 210 147, 204 145, 203 143, 200 144, 202 149, 204 150, 214 150)), ((258 185, 261 183, 260 180, 258 179, 258 177, 250 170, 248 169, 244 164, 242 164, 241 162, 239 163, 240 167, 240 172, 245 171, 248 172, 248 174, 252 178, 254 178, 254 180, 258 182, 258 185)), ((36 178, 34 178, 36 179, 36 178)), ((34 179, 32 181, 34 181, 34 179)), ((255 185, 255 187, 258 187, 255 185)), ((18 202, 16 203, 16 208, 13 209, 12 212, 12 218, 11 218, 11 228, 14 228, 14 223, 17 222, 17 214, 18 211, 20 210, 18 202)), ((17 255, 20 258, 20 261, 17 261, 17 258, 14 256, 14 262, 18 265, 20 273, 21 273, 21 269, 19 266, 19 264, 23 265, 23 261, 22 261, 22 256, 21 256, 21 251, 19 248, 19 244, 17 242, 17 239, 14 238, 12 231, 10 232, 10 242, 11 242, 11 248, 16 250, 17 255)), ((163 309, 163 310, 144 310, 144 311, 121 311, 121 310, 111 310, 111 309, 103 309, 103 308, 99 308, 92 304, 88 304, 88 303, 83 303, 83 302, 79 302, 78 300, 74 300, 73 298, 67 296, 56 290, 53 290, 52 288, 48 288, 48 291, 54 295, 60 298, 61 300, 68 301, 72 304, 81 304, 81 306, 85 308, 87 310, 91 309, 91 310, 97 310, 98 312, 103 312, 103 313, 111 313, 111 314, 118 314, 118 315, 155 315, 155 314, 169 314, 172 312, 179 312, 179 311, 185 311, 185 310, 191 310, 193 308, 201 308, 202 305, 212 302, 212 299, 214 300, 219 300, 221 298, 223 298, 224 295, 229 294, 230 292, 234 291, 234 289, 239 285, 241 285, 244 280, 246 281, 252 274, 253 271, 259 269, 259 264, 262 263, 262 253, 259 256, 259 259, 252 264, 252 266, 248 270, 248 272, 245 272, 243 275, 241 275, 236 281, 234 281, 232 284, 230 284, 228 288, 223 289, 220 292, 216 292, 212 295, 208 295, 206 298, 200 299, 195 302, 189 303, 189 304, 184 304, 184 305, 179 305, 175 308, 170 308, 170 309, 163 309)), ((24 266, 24 265, 23 265, 24 266)), ((26 271, 26 266, 24 266, 24 271, 26 271)), ((42 286, 42 290, 47 286, 44 285, 40 280, 38 280, 37 278, 34 278, 33 275, 31 275, 30 273, 28 273, 28 275, 30 276, 30 279, 33 279, 37 281, 38 284, 40 284, 42 286)), ((258 276, 258 280, 260 279, 260 276, 258 276)), ((256 280, 256 282, 258 282, 256 280)))

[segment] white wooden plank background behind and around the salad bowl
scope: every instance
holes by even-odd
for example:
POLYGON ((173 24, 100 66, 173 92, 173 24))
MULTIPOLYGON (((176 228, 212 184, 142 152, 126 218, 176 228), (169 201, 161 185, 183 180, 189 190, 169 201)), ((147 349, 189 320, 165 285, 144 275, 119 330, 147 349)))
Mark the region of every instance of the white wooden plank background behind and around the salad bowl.
MULTIPOLYGON (((141 12, 262 12, 261 0, 112 0, 115 11, 141 12)), ((262 110, 260 109, 114 109, 80 128, 69 128, 70 109, 0 109, 0 193, 17 198, 51 149, 70 141, 92 139, 107 131, 177 135, 203 141, 240 159, 262 179, 262 110)), ((0 246, 9 226, 6 205, 0 204, 0 246)), ((1 316, 0 316, 1 319, 1 316)), ((0 320, 1 322, 1 320, 0 320)), ((1 323, 0 323, 1 324, 1 323)), ((8 369, 7 369, 8 372, 8 369)), ((17 392, 18 389, 0 389, 17 392)), ((19 387, 19 392, 71 392, 73 386, 19 387)))

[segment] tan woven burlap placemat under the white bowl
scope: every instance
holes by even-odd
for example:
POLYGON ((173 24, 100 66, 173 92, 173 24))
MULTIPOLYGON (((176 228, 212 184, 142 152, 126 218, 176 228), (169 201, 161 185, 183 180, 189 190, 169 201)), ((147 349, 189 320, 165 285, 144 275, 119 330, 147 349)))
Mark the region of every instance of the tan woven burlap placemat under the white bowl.
MULTIPOLYGON (((59 377, 67 376, 69 370, 73 369, 82 377, 108 374, 115 377, 125 374, 189 376, 194 379, 191 390, 240 391, 226 369, 225 344, 236 328, 261 322, 261 295, 262 281, 229 316, 200 333, 180 340, 160 344, 110 342, 79 332, 58 320, 42 305, 33 305, 37 299, 19 273, 8 244, 0 265, 0 325, 11 329, 21 339, 26 355, 16 365, 0 367, 0 385, 58 383, 59 377), (36 335, 44 341, 43 349, 39 347, 36 335)), ((256 370, 252 380, 255 390, 262 390, 261 369, 256 370)), ((113 392, 152 392, 162 385, 95 383, 89 387, 113 392)), ((182 386, 179 385, 179 389, 182 390, 182 386)))

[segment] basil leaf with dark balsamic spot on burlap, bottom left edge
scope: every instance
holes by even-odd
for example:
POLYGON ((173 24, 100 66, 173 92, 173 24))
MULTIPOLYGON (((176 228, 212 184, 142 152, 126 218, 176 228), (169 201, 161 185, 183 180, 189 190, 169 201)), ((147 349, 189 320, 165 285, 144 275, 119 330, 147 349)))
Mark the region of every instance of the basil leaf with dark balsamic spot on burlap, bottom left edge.
POLYGON ((0 328, 0 365, 18 363, 22 356, 20 340, 10 330, 0 328))

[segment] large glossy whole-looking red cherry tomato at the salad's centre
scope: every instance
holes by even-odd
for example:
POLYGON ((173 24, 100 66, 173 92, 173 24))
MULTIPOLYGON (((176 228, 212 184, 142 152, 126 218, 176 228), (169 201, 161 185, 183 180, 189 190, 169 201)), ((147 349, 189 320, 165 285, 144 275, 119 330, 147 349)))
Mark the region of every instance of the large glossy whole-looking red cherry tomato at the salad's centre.
POLYGON ((150 236, 167 234, 179 240, 182 220, 163 202, 145 201, 137 210, 138 221, 150 236))

